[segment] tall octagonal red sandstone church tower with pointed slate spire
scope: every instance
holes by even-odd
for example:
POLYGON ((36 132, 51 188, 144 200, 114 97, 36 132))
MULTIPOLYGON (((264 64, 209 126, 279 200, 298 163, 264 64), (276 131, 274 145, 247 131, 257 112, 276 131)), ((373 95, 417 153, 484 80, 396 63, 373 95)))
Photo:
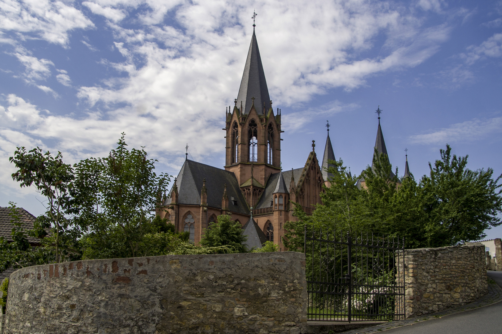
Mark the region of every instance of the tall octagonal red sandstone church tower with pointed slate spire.
POLYGON ((233 109, 226 112, 225 170, 233 172, 249 206, 260 198, 270 174, 281 171, 281 113, 274 115, 253 28, 233 109))

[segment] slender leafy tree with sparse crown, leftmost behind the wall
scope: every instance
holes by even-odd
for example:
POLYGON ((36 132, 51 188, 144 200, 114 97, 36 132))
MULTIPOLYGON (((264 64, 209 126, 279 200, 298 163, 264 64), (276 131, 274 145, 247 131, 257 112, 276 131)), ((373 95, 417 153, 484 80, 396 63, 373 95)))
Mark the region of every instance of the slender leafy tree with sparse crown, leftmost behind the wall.
POLYGON ((12 174, 12 178, 20 182, 21 187, 34 185, 46 198, 43 202, 45 214, 39 216, 37 220, 42 229, 48 228, 51 231, 47 241, 52 241, 56 262, 78 257, 75 244, 80 231, 70 219, 70 191, 74 180, 71 165, 63 162, 61 152, 53 156, 49 151, 43 153, 39 147, 28 152, 25 147, 18 147, 9 160, 18 168, 12 174))

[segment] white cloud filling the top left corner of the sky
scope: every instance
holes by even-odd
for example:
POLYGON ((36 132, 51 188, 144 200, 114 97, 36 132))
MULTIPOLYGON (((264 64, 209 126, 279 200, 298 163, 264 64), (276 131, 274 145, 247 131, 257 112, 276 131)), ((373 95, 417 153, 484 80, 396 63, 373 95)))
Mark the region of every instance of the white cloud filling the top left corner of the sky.
POLYGON ((36 37, 67 46, 70 31, 94 26, 71 5, 71 2, 50 0, 2 0, 0 31, 12 31, 26 35, 26 38, 36 37))

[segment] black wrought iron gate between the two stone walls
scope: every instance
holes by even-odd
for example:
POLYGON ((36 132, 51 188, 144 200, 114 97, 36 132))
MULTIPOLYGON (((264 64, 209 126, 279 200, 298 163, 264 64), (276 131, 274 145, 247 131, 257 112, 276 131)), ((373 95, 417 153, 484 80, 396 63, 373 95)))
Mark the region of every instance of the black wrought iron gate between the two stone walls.
POLYGON ((404 319, 404 238, 305 227, 304 250, 309 320, 404 319))

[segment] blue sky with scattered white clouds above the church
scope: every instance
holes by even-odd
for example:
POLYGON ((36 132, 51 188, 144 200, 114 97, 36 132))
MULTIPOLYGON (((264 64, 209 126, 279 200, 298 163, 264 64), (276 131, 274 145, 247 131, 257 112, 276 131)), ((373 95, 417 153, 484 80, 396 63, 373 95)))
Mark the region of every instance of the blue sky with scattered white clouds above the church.
MULTIPOLYGON (((359 174, 381 124, 391 163, 416 179, 448 143, 468 168, 502 173, 502 1, 0 0, 0 206, 38 215, 12 180, 16 147, 104 157, 126 133, 156 170, 224 166, 225 108, 256 35, 282 166, 305 164, 326 121, 359 174)), ((502 237, 502 226, 487 230, 502 237)))

